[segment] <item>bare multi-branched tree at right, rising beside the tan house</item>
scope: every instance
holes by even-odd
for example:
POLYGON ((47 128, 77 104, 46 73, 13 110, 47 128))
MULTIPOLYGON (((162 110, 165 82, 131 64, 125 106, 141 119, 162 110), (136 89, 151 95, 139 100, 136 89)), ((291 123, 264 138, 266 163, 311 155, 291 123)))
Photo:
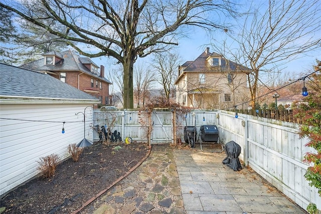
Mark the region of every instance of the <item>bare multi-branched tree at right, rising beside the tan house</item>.
POLYGON ((237 47, 229 50, 235 58, 232 61, 249 68, 243 72, 247 74, 252 108, 262 72, 282 70, 288 60, 321 47, 321 38, 315 37, 321 29, 320 1, 269 0, 267 6, 260 4, 258 8, 240 24, 236 36, 230 34, 237 47))

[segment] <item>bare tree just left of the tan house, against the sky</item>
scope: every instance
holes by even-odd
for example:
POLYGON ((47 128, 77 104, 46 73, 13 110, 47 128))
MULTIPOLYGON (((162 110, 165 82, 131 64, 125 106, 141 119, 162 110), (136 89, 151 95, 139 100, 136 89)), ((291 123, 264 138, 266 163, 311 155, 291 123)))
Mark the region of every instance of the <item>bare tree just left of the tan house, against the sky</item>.
POLYGON ((155 54, 151 66, 159 75, 157 82, 163 86, 165 97, 170 98, 173 93, 174 82, 177 79, 177 68, 181 63, 180 56, 174 52, 155 54))

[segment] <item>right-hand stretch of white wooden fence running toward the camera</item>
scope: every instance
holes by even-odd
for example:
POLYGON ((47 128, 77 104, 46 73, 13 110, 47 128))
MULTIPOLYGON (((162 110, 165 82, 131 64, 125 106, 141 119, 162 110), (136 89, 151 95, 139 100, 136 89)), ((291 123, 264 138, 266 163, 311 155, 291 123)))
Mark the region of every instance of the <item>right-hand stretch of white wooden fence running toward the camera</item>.
POLYGON ((310 202, 321 208, 317 189, 304 178, 304 154, 315 150, 305 146, 308 138, 299 137, 298 124, 241 113, 235 118, 227 111, 220 111, 218 118, 221 141, 237 142, 245 164, 302 208, 310 202))

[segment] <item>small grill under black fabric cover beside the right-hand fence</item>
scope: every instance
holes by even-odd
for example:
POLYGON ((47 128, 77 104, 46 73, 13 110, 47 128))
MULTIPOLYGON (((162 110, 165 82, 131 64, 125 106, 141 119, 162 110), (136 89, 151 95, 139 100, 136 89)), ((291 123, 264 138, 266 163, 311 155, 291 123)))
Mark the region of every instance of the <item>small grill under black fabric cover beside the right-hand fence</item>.
POLYGON ((223 160, 223 164, 226 164, 234 171, 240 171, 242 169, 239 155, 241 154, 241 146, 234 141, 230 141, 225 144, 225 153, 227 155, 223 160))

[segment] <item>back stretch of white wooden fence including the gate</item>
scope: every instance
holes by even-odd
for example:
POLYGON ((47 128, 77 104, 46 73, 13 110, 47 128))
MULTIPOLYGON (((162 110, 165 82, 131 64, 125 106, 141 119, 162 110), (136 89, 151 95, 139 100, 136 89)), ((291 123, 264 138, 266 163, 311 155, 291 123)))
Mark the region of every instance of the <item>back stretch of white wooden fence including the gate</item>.
MULTIPOLYGON (((134 141, 151 143, 174 143, 177 138, 184 138, 184 127, 196 125, 216 124, 215 112, 194 111, 187 114, 172 112, 170 109, 157 109, 152 111, 150 124, 152 131, 150 139, 147 137, 149 115, 139 111, 93 111, 92 127, 98 125, 110 128, 111 132, 120 132, 122 139, 129 136, 134 141), (176 123, 173 118, 176 117, 176 123)), ((99 134, 93 129, 93 140, 99 140, 99 134)))

